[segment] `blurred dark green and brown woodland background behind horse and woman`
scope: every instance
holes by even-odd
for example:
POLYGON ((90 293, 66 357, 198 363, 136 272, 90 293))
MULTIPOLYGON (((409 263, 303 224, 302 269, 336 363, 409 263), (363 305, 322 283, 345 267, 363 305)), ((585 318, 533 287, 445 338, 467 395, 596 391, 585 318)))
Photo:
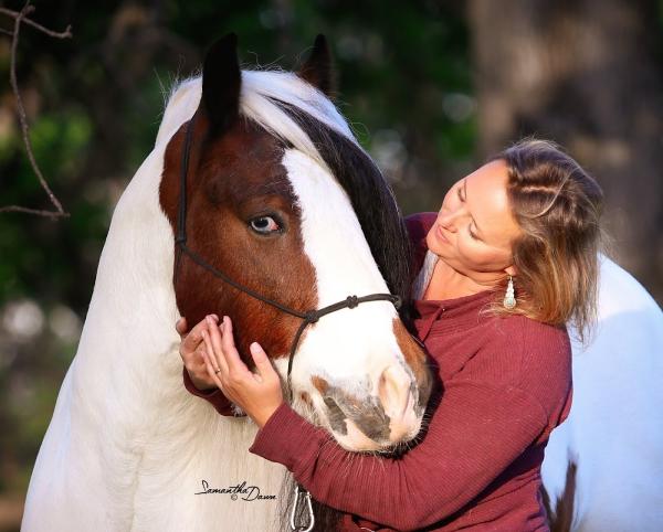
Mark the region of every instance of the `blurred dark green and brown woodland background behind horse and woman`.
MULTIPOLYGON (((603 187, 611 256, 663 301, 663 1, 39 1, 17 77, 40 167, 71 217, 0 213, 0 531, 18 530, 75 354, 113 209, 154 145, 164 98, 234 31, 248 67, 296 67, 325 33, 338 106, 406 214, 525 135, 603 187)), ((20 10, 23 2, 0 2, 20 10)), ((0 14, 0 206, 50 209, 10 86, 0 14)), ((624 294, 628 298, 628 294, 624 294)))

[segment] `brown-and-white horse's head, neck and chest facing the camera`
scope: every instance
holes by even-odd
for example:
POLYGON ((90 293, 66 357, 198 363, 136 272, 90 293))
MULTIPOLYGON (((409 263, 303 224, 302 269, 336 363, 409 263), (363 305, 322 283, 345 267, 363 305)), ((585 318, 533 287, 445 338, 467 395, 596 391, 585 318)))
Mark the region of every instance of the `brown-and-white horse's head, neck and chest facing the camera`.
POLYGON ((433 379, 406 319, 407 230, 328 97, 329 68, 319 36, 297 73, 242 71, 231 34, 169 98, 113 213, 30 480, 25 532, 284 530, 278 502, 292 478, 248 453, 250 418, 219 416, 186 392, 180 316, 232 316, 243 360, 251 366, 249 341, 259 341, 287 373, 293 407, 346 449, 392 451, 420 433, 433 379), (180 198, 187 248, 243 289, 180 253, 180 198), (373 294, 389 296, 361 301, 373 294), (235 501, 231 488, 261 499, 235 501))

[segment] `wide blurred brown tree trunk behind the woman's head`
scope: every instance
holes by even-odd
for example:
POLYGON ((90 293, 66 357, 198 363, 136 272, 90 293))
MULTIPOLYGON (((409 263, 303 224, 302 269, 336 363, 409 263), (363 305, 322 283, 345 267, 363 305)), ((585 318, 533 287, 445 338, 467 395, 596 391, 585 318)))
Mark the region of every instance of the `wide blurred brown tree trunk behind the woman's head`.
POLYGON ((657 2, 472 0, 469 18, 481 155, 524 135, 565 146, 603 187, 612 255, 661 304, 657 2))

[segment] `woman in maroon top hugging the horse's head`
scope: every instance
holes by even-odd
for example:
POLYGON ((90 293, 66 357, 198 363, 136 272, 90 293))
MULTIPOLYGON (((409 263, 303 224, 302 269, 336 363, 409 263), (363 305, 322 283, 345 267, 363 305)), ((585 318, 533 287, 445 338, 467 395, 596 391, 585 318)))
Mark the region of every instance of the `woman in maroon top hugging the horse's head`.
POLYGON ((295 413, 260 345, 257 373, 240 360, 228 317, 189 334, 178 322, 187 389, 251 416, 249 450, 346 512, 341 530, 548 530, 540 465, 571 404, 565 323, 582 333, 593 312, 601 200, 569 156, 525 140, 455 183, 436 216, 408 219, 414 326, 443 394, 400 458, 348 453, 295 413))

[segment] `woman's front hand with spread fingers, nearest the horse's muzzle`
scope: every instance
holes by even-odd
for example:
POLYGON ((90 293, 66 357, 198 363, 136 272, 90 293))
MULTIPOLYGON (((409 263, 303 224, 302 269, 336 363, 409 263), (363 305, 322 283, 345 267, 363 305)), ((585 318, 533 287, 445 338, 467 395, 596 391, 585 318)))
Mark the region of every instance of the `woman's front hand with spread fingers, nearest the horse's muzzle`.
POLYGON ((240 359, 232 336, 232 322, 223 317, 220 326, 208 316, 207 328, 201 329, 206 349, 202 351, 208 376, 223 395, 240 406, 259 427, 283 403, 281 380, 263 349, 253 342, 250 347, 257 373, 240 359))

